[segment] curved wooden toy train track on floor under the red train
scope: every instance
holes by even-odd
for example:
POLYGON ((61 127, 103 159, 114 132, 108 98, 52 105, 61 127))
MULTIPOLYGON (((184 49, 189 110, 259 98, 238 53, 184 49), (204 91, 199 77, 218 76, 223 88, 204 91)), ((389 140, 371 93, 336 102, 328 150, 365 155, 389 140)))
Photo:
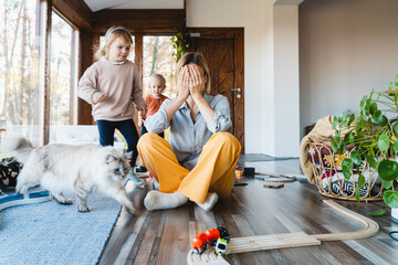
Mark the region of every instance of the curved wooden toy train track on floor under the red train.
MULTIPOLYGON (((331 206, 333 210, 343 213, 358 222, 364 227, 359 231, 346 232, 346 233, 328 233, 328 234, 313 234, 308 235, 305 233, 286 233, 275 235, 259 235, 259 236, 247 236, 231 239, 228 243, 227 254, 245 253, 253 251, 275 250, 284 247, 297 247, 297 246, 310 246, 321 245, 322 241, 338 241, 338 240, 357 240, 365 239, 375 235, 379 225, 371 219, 365 218, 356 212, 353 212, 338 203, 324 200, 325 204, 331 206)), ((187 261, 190 265, 226 265, 229 264, 222 256, 217 256, 213 247, 208 247, 202 254, 193 253, 189 251, 187 261)))

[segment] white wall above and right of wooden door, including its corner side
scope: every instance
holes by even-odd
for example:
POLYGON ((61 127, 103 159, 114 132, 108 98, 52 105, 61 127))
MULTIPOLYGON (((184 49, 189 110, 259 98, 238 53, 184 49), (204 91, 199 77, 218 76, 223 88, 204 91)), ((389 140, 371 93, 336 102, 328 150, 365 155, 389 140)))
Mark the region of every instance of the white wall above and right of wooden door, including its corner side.
POLYGON ((244 28, 245 152, 297 157, 297 7, 277 7, 274 19, 273 3, 188 0, 187 26, 244 28), (293 50, 284 53, 280 45, 293 50), (274 60, 281 60, 276 67, 274 60))

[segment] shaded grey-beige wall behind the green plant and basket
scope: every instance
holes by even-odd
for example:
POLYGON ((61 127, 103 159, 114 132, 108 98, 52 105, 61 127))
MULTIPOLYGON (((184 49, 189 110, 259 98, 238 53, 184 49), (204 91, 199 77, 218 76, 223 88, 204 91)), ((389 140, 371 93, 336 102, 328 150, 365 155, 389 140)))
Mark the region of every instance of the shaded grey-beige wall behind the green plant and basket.
POLYGON ((300 14, 301 131, 359 110, 398 74, 397 0, 305 0, 300 14))

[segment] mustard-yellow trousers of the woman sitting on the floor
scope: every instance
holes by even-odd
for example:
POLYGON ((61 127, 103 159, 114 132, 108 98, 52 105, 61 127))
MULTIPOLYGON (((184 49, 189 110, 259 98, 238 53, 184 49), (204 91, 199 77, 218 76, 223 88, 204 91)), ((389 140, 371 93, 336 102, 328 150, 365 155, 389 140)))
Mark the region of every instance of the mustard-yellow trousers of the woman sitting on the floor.
POLYGON ((241 146, 229 132, 212 135, 191 171, 178 162, 170 144, 156 134, 140 137, 137 149, 144 166, 159 182, 160 192, 177 191, 191 201, 205 203, 209 191, 219 197, 231 192, 241 146))

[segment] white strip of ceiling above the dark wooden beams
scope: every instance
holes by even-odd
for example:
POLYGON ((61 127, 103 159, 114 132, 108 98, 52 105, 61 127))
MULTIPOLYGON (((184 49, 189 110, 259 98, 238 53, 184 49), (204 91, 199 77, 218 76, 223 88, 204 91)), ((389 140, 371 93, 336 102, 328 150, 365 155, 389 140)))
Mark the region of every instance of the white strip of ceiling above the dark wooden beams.
POLYGON ((102 9, 184 9, 184 0, 84 0, 96 12, 102 9))

